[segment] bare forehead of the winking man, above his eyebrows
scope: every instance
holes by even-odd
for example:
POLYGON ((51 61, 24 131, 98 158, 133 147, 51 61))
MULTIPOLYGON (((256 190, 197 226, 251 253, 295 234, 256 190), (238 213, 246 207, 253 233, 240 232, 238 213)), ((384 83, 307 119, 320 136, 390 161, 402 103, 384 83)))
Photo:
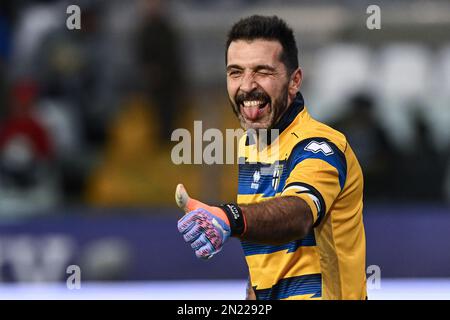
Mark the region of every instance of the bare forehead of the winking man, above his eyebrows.
POLYGON ((276 40, 236 40, 228 48, 228 65, 258 65, 280 62, 282 46, 276 40))

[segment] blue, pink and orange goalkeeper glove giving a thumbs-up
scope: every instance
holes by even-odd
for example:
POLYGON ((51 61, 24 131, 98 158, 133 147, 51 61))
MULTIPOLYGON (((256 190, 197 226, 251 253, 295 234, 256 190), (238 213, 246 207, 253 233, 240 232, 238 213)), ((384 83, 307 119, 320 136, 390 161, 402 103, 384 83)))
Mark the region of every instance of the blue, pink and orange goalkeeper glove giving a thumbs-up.
POLYGON ((191 199, 182 184, 177 186, 175 200, 186 213, 178 221, 178 231, 198 258, 212 258, 230 236, 245 232, 245 218, 236 204, 209 206, 191 199))

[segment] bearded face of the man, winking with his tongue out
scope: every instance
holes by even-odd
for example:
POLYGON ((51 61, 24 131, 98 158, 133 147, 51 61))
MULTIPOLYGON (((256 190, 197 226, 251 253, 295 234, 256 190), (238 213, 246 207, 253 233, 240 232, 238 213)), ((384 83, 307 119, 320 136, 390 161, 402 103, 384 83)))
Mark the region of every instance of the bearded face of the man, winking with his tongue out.
POLYGON ((228 48, 228 97, 245 130, 271 128, 292 100, 282 50, 278 41, 262 39, 233 41, 228 48))

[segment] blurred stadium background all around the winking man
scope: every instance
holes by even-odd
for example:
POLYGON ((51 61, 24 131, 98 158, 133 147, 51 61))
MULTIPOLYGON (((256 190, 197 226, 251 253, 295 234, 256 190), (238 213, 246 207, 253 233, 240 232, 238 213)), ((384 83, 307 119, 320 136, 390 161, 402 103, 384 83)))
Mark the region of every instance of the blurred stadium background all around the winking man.
POLYGON ((230 241, 198 261, 176 231, 183 182, 235 199, 233 165, 174 165, 175 128, 237 128, 226 32, 293 27, 310 112, 365 173, 370 299, 450 299, 450 2, 1 1, 0 298, 241 299, 230 241), (68 5, 81 30, 68 30, 68 5), (381 8, 368 30, 366 9, 381 8), (214 177, 214 179, 211 179, 214 177), (68 290, 69 265, 81 289, 68 290))

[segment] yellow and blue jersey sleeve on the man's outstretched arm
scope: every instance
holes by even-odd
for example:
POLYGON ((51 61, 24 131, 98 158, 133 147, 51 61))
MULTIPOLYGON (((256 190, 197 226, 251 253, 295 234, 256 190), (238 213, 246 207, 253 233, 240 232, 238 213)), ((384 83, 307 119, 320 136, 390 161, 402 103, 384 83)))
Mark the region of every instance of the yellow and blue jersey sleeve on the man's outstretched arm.
POLYGON ((329 140, 311 138, 294 147, 287 166, 289 175, 281 195, 297 196, 306 201, 316 227, 344 188, 345 155, 329 140))

